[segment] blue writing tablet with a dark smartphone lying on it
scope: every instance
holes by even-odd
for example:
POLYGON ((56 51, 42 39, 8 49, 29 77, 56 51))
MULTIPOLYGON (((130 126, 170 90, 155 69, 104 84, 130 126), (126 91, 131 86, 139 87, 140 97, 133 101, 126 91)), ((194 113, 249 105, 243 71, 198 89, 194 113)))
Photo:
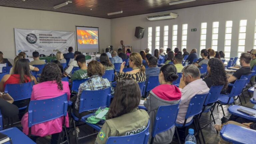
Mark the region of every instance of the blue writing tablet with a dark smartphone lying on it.
POLYGON ((231 106, 229 106, 228 107, 228 112, 233 114, 233 115, 245 118, 245 119, 249 119, 249 120, 253 120, 253 121, 256 120, 256 115, 247 115, 245 113, 237 111, 237 109, 240 109, 240 108, 256 114, 256 110, 255 109, 247 108, 247 107, 243 107, 243 106, 239 106, 239 105, 231 105, 231 106))

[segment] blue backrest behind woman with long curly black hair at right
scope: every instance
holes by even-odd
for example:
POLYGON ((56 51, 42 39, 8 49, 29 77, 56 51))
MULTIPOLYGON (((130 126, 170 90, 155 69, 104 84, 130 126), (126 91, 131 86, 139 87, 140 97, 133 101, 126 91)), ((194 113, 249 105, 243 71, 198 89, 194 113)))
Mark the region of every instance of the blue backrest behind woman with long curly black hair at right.
POLYGON ((218 85, 218 86, 212 86, 210 88, 210 91, 205 99, 204 105, 206 106, 207 104, 214 103, 218 101, 220 92, 223 88, 223 85, 218 85))

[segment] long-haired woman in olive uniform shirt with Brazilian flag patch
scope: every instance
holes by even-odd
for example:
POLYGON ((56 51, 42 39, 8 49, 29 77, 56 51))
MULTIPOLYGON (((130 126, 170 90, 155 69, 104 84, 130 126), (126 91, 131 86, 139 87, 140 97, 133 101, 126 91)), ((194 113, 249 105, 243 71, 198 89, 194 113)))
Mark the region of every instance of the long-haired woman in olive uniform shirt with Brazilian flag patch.
POLYGON ((117 83, 106 121, 96 137, 95 144, 105 144, 111 136, 127 136, 133 134, 133 131, 142 131, 147 127, 149 116, 145 110, 138 109, 140 98, 139 85, 133 79, 123 78, 117 83))

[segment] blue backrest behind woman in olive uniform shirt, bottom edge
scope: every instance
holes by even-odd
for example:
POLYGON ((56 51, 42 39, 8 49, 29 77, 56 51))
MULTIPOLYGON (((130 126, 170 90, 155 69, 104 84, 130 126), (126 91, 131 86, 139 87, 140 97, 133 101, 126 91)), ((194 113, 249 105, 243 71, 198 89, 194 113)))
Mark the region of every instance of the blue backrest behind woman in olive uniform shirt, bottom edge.
POLYGON ((147 127, 140 133, 128 136, 111 136, 107 139, 106 144, 147 144, 149 123, 148 121, 147 127))

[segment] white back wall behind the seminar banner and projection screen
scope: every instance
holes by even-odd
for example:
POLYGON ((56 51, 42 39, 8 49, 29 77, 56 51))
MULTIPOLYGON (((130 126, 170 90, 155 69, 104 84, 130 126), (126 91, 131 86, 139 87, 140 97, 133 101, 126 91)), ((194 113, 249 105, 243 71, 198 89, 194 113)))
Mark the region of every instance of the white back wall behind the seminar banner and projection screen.
POLYGON ((0 51, 15 57, 14 28, 76 31, 75 26, 99 27, 100 52, 110 45, 110 19, 0 6, 0 51))

